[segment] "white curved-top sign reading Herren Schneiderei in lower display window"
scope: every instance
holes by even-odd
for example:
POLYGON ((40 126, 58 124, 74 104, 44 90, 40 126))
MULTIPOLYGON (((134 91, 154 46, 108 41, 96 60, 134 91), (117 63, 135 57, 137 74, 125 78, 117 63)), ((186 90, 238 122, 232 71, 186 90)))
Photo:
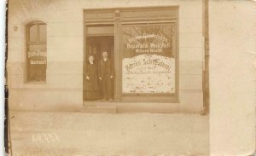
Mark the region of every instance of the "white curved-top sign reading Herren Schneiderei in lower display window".
POLYGON ((174 93, 175 60, 137 55, 123 60, 123 93, 174 93))

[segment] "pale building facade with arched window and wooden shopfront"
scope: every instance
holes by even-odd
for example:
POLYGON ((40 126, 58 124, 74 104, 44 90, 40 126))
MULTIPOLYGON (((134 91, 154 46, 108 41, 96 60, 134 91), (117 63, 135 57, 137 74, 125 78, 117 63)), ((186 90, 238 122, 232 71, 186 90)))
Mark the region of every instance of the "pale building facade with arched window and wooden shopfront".
POLYGON ((208 81, 204 6, 201 0, 9 1, 10 108, 201 113, 208 81), (103 52, 111 64, 111 101, 102 101, 98 79, 103 52), (88 98, 91 56, 94 100, 88 98))

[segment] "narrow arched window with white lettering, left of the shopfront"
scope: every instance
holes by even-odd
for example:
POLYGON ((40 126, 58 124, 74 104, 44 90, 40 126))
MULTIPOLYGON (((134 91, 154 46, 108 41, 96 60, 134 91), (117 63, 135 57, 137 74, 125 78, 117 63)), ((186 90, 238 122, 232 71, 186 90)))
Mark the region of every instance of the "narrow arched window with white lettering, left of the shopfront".
POLYGON ((26 26, 26 82, 45 82, 47 67, 46 24, 33 21, 26 26))

